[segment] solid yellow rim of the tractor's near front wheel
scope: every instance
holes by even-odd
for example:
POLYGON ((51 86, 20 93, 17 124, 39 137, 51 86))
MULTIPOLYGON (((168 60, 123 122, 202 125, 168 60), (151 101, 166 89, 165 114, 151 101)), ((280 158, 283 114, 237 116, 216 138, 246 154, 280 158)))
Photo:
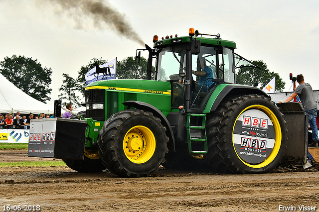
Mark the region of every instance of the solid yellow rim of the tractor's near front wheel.
POLYGON ((145 126, 134 126, 123 140, 123 150, 126 157, 133 163, 145 163, 155 152, 156 140, 153 132, 145 126))

